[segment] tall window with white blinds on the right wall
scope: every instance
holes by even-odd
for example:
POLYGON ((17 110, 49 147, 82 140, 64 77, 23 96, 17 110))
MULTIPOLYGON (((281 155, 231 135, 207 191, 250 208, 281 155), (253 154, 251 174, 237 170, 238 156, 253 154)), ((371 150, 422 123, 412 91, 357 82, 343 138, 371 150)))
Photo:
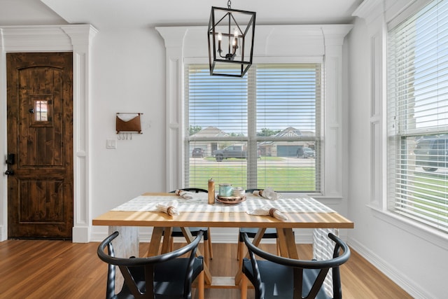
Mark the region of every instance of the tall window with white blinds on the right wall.
POLYGON ((448 232, 448 1, 388 33, 388 209, 448 232))

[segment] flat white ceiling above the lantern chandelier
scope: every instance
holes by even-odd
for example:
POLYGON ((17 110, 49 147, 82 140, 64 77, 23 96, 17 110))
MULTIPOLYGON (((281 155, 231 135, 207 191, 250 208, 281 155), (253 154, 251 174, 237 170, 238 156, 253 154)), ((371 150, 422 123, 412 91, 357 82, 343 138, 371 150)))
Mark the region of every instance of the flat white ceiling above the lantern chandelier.
MULTIPOLYGON (((233 9, 255 11, 258 25, 350 23, 363 0, 234 0, 233 9)), ((226 0, 41 0, 71 24, 108 27, 207 25, 211 6, 226 0)))

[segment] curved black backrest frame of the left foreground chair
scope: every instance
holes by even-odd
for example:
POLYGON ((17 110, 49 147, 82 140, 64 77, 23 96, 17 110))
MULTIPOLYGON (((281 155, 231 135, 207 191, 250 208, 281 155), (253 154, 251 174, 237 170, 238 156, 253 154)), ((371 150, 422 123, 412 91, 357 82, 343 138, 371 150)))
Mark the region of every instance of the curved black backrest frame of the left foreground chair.
MULTIPOLYGON (((108 279, 106 287, 106 298, 116 298, 115 294, 115 267, 120 268, 121 273, 125 279, 125 286, 134 295, 134 298, 155 298, 155 265, 164 263, 168 260, 174 260, 179 256, 190 252, 188 258, 188 266, 183 282, 184 298, 189 298, 191 295, 191 284, 193 282, 193 265, 196 259, 202 262, 202 256, 195 257, 197 245, 199 244, 203 231, 197 233, 196 238, 190 244, 181 247, 175 251, 164 253, 159 256, 151 256, 148 258, 116 258, 113 251, 112 240, 115 239, 119 233, 113 232, 112 235, 106 237, 98 246, 97 254, 101 260, 109 264, 108 279), (104 251, 107 247, 108 253, 104 251), (146 288, 146 291, 144 291, 146 288)), ((201 263, 202 264, 202 263, 201 263)))

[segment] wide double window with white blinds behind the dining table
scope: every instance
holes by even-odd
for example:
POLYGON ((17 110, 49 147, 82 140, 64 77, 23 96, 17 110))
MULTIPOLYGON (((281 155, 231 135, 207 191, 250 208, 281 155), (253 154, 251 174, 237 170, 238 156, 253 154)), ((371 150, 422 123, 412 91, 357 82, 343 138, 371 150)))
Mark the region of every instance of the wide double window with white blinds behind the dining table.
POLYGON ((253 64, 244 78, 186 65, 186 186, 321 193, 321 64, 253 64))

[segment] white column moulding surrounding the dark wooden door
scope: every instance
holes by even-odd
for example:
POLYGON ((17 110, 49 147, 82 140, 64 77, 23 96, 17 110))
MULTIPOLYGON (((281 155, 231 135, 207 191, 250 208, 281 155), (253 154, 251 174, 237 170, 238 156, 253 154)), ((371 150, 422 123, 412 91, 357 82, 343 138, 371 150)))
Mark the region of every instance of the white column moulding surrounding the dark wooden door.
MULTIPOLYGON (((91 25, 43 25, 0 27, 0 60, 8 52, 73 52, 73 242, 89 242, 92 223, 89 167, 89 69, 90 45, 97 29, 91 25)), ((1 64, 0 90, 6 90, 6 63, 1 64)), ((0 109, 6 111, 6 92, 0 94, 0 109)), ((0 110, 1 111, 1 110, 0 110)), ((0 112, 6 116, 6 113, 0 112)), ((6 117, 2 118, 6 127, 6 117)), ((6 132, 0 132, 6 144, 6 132)), ((0 156, 6 155, 6 146, 0 156)), ((6 186, 6 176, 0 180, 6 186)), ((6 188, 2 188, 3 190, 6 188)), ((0 207, 7 210, 8 194, 0 193, 0 207)), ((0 215, 0 241, 7 239, 7 212, 0 215)))

